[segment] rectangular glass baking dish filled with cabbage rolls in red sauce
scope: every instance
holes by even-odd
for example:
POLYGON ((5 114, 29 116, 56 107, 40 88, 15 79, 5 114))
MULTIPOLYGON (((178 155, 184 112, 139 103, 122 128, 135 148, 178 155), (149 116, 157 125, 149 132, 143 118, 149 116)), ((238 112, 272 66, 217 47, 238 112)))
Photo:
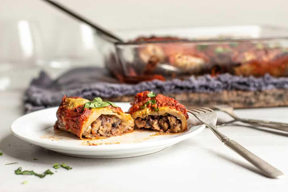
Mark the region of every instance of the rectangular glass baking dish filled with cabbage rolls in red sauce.
POLYGON ((126 41, 111 42, 97 36, 97 44, 105 65, 121 82, 220 73, 288 76, 285 28, 258 25, 164 28, 118 35, 126 41))

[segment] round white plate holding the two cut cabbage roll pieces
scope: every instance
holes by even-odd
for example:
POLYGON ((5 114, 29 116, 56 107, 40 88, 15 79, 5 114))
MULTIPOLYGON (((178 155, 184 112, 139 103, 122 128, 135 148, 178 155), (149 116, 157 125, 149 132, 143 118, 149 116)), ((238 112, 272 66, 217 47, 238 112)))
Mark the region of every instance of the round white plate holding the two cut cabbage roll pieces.
MULTIPOLYGON (((126 102, 116 104, 123 111, 128 111, 130 107, 126 102)), ((43 109, 19 117, 11 125, 12 133, 24 141, 64 155, 108 159, 155 153, 190 138, 205 128, 205 125, 192 126, 189 114, 188 129, 180 134, 154 136, 155 131, 134 131, 122 136, 87 141, 53 129, 57 109, 58 107, 43 109)))

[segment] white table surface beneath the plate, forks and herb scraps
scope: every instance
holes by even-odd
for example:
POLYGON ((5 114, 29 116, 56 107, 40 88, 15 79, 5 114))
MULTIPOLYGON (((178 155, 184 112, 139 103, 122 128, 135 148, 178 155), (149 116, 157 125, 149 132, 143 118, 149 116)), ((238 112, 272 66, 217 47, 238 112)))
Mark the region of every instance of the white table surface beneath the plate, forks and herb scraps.
MULTIPOLYGON (((30 145, 10 132, 11 123, 22 115, 23 90, 0 92, 0 191, 287 191, 288 177, 266 178, 209 129, 158 153, 123 159, 69 157, 30 145), (5 165, 12 162, 19 164, 5 165), (73 169, 55 172, 53 164, 62 162, 73 169), (55 174, 16 175, 18 167, 37 173, 50 168, 55 174)), ((236 114, 288 122, 288 107, 236 110, 236 114)), ((288 133, 243 126, 220 130, 288 174, 288 133)))

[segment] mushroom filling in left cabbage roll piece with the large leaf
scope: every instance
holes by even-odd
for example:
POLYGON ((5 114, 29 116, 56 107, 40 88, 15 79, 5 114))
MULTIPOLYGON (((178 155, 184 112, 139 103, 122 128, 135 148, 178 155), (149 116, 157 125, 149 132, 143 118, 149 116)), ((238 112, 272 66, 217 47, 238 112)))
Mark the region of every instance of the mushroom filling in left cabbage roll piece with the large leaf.
POLYGON ((98 136, 110 137, 132 131, 128 126, 115 115, 100 115, 90 126, 82 132, 82 136, 93 138, 98 136))

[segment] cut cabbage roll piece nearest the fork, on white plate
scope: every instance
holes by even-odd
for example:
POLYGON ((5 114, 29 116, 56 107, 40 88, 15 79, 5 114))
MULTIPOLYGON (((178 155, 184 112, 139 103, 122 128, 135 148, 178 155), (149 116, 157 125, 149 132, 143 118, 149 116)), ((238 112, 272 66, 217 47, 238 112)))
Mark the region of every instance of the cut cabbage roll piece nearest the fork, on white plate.
POLYGON ((187 130, 187 109, 173 98, 144 91, 135 96, 129 113, 135 129, 150 129, 165 133, 187 130))

